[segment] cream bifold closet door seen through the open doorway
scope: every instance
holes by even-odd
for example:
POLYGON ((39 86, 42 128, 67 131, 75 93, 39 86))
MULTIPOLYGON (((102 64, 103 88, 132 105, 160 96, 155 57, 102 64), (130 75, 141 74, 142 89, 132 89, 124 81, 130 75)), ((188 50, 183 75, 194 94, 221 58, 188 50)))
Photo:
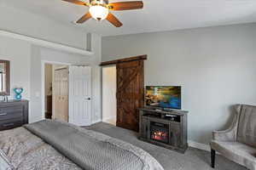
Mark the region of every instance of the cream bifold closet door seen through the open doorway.
POLYGON ((53 118, 68 122, 68 69, 56 69, 54 81, 53 118))

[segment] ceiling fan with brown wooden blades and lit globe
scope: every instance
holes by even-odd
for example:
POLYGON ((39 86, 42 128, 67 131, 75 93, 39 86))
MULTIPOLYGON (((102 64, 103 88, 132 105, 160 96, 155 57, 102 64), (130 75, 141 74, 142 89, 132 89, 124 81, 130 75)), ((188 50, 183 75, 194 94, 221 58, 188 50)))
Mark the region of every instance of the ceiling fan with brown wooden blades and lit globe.
POLYGON ((85 3, 80 0, 62 0, 77 5, 89 7, 89 12, 84 14, 76 23, 82 24, 86 20, 93 18, 95 20, 108 20, 113 26, 120 27, 123 24, 109 11, 111 10, 131 10, 143 8, 142 1, 108 3, 108 0, 90 0, 90 3, 85 3))

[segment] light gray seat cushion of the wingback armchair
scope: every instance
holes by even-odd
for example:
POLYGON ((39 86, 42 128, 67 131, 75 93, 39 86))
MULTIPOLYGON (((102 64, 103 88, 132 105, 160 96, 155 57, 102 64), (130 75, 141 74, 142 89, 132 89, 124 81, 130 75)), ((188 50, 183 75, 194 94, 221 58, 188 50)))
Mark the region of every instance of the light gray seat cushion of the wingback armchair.
POLYGON ((256 170, 256 149, 252 146, 239 142, 212 140, 211 148, 231 161, 235 161, 251 170, 256 170))

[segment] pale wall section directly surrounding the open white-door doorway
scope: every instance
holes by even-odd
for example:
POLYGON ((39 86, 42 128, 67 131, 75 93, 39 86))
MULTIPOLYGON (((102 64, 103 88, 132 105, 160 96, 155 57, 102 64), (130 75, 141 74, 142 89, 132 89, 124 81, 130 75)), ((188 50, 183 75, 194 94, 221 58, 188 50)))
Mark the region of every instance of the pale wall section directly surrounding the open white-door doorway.
POLYGON ((101 119, 101 37, 93 35, 93 56, 79 54, 67 54, 49 48, 40 48, 32 45, 31 60, 31 113, 30 121, 36 122, 42 119, 42 94, 43 94, 43 69, 42 61, 53 63, 65 63, 70 65, 90 65, 92 67, 92 122, 101 119))

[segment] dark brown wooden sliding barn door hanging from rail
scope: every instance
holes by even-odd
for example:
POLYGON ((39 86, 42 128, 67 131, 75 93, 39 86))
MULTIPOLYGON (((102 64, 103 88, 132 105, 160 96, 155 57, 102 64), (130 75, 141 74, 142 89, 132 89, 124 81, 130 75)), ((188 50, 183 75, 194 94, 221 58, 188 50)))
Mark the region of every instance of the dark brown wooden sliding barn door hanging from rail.
POLYGON ((143 60, 117 64, 117 126, 138 131, 144 104, 143 60))

